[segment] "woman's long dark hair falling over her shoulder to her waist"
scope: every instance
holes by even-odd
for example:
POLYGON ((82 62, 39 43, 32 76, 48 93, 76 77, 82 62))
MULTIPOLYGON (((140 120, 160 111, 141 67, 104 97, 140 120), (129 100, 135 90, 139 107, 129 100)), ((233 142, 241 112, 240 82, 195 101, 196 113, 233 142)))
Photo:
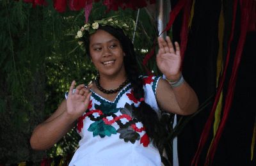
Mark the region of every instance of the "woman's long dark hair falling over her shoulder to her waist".
MULTIPOLYGON (((122 29, 116 29, 111 26, 99 26, 99 29, 108 32, 112 36, 114 36, 118 41, 120 41, 122 45, 122 49, 125 53, 124 56, 124 66, 125 72, 127 73, 127 77, 131 82, 132 90, 134 91, 134 97, 137 100, 140 98, 144 98, 144 90, 143 90, 143 79, 140 77, 140 71, 138 68, 138 61, 136 61, 136 53, 134 51, 134 46, 131 40, 124 34, 122 29)), ((90 55, 89 38, 86 43, 86 53, 90 55)), ((159 119, 155 110, 153 110, 150 105, 142 101, 139 107, 133 108, 135 117, 143 123, 146 128, 146 132, 150 140, 153 142, 154 146, 159 149, 161 160, 164 165, 170 165, 170 159, 163 157, 163 151, 166 150, 166 154, 170 155, 170 140, 166 140, 170 131, 166 124, 170 125, 170 123, 166 123, 170 118, 162 118, 159 119), (165 120, 163 120, 165 119, 165 120), (167 119, 167 120, 166 120, 167 119), (167 149, 168 148, 168 149, 167 149)))

